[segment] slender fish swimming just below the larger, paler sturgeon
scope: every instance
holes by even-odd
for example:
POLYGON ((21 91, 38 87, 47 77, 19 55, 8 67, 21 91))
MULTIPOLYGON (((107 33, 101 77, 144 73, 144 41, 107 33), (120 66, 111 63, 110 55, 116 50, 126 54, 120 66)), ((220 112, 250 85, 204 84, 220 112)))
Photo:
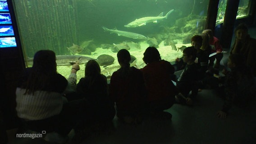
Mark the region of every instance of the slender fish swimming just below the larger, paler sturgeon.
POLYGON ((132 39, 139 39, 139 40, 145 40, 146 39, 146 36, 143 36, 143 35, 138 34, 138 33, 128 32, 128 31, 119 31, 116 28, 110 30, 110 29, 108 29, 106 27, 103 27, 103 26, 102 26, 102 28, 105 31, 109 31, 110 33, 116 33, 118 36, 125 36, 125 37, 129 37, 129 38, 132 38, 132 39))

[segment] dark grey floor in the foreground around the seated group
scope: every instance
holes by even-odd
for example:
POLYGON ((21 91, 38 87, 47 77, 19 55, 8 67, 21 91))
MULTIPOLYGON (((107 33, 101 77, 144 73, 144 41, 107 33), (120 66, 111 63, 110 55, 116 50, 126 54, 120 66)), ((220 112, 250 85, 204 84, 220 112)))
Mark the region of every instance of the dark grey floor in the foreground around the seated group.
MULTIPOLYGON (((114 130, 92 134, 82 144, 256 144, 256 104, 233 107, 226 119, 216 112, 223 100, 214 90, 198 94, 195 106, 174 104, 172 120, 147 119, 140 125, 113 120, 114 130)), ((43 144, 40 139, 16 139, 13 144, 43 144)))

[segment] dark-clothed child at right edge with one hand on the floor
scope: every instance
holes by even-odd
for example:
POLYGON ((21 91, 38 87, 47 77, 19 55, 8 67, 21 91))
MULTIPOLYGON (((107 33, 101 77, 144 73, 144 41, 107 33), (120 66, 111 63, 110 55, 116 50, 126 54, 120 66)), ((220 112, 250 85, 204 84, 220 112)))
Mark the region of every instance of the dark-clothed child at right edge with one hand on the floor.
POLYGON ((218 117, 226 118, 228 110, 233 104, 246 107, 250 100, 255 98, 256 86, 252 71, 245 64, 242 54, 231 54, 228 59, 230 72, 225 71, 224 83, 225 103, 222 110, 217 112, 218 117))

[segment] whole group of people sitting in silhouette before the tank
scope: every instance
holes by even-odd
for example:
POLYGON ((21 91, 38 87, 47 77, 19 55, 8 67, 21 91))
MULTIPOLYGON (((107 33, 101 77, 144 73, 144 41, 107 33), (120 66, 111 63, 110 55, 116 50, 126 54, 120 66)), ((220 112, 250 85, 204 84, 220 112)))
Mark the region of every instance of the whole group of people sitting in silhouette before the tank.
POLYGON ((164 110, 174 103, 192 105, 209 77, 215 78, 218 84, 223 82, 227 99, 218 116, 225 118, 233 103, 245 107, 254 99, 255 73, 247 67, 245 56, 235 53, 240 45, 236 42, 228 59, 231 71, 224 72, 224 80, 209 74, 214 69, 215 58, 214 67, 218 68, 223 55, 222 49, 212 48, 209 38, 213 36, 206 33, 193 36, 192 46, 183 50, 183 58, 176 59, 177 63, 182 61, 180 76, 174 75, 174 66, 161 59, 155 47, 145 50, 146 66, 142 69, 130 66, 128 50, 119 50, 117 58, 121 67, 111 76, 110 84, 95 60, 88 61, 85 76, 77 84, 78 63, 72 65, 66 79, 56 70, 55 53, 38 51, 33 66, 25 70, 16 90, 16 110, 23 128, 49 131, 51 135, 47 134, 44 140, 65 143, 70 131, 95 123, 110 123, 115 116, 128 124, 140 124, 146 118, 170 120, 172 115, 164 110), (209 66, 209 55, 216 50, 218 55, 211 59, 209 66))

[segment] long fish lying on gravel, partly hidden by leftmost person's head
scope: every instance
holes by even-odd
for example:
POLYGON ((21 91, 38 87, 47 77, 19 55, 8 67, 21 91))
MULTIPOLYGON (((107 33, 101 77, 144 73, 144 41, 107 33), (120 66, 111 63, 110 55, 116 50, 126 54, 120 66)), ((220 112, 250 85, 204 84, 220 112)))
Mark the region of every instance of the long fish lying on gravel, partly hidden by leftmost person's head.
MULTIPOLYGON (((82 55, 56 55, 57 66, 70 66, 79 61, 79 64, 85 64, 94 59, 82 55)), ((96 59, 94 59, 96 60, 96 59)), ((27 58, 27 65, 33 65, 33 58, 27 58)))

